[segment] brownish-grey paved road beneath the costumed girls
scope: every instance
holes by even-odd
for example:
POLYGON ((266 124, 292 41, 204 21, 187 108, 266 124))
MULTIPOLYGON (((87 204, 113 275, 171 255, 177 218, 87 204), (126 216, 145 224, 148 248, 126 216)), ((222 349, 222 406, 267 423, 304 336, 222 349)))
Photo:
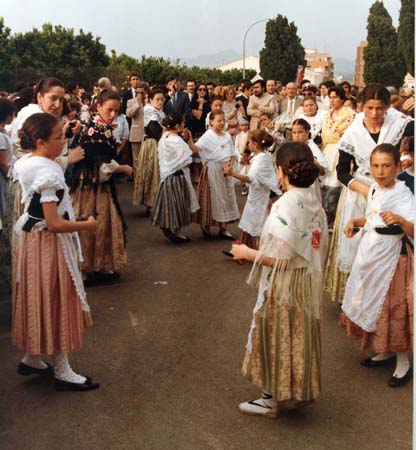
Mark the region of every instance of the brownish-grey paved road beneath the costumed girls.
POLYGON ((320 399, 277 421, 241 415, 238 403, 258 394, 240 375, 256 298, 244 282, 249 268, 196 225, 190 244, 170 244, 131 207, 131 187, 122 195, 128 267, 119 284, 88 289, 95 326, 72 355, 99 390, 57 393, 50 381, 19 377, 0 303, 1 450, 411 448, 412 386, 391 389, 389 369, 359 365, 365 355, 329 302, 320 399))

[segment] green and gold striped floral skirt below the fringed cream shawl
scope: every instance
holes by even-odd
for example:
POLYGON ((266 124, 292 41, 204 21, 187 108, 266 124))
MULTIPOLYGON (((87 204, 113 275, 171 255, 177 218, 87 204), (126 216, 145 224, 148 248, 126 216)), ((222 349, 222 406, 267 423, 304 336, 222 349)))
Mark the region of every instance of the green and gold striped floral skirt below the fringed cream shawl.
MULTIPOLYGON (((312 277, 304 268, 292 286, 300 302, 310 300, 312 277)), ((277 401, 309 401, 321 389, 321 320, 300 307, 278 305, 274 286, 255 314, 252 349, 246 350, 242 373, 277 401)))

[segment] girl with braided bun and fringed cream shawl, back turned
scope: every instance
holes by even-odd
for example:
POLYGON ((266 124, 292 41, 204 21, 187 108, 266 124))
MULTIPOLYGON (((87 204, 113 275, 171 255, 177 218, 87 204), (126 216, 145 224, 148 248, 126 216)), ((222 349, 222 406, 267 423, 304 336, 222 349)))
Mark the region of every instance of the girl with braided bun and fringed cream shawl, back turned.
POLYGON ((242 413, 276 418, 282 406, 315 400, 321 389, 321 309, 325 212, 311 188, 319 175, 306 144, 276 152, 284 191, 264 224, 260 250, 233 245, 237 260, 254 261, 249 281, 259 280, 243 375, 261 398, 239 405, 242 413), (285 402, 285 403, 283 403, 285 402))

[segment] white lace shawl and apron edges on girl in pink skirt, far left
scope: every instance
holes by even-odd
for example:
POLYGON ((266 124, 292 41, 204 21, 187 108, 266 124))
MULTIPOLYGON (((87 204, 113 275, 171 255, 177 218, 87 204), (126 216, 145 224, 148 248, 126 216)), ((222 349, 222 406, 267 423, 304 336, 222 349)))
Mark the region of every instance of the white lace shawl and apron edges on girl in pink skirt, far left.
MULTIPOLYGON (((68 186, 65 183, 64 174, 59 164, 50 159, 43 158, 41 156, 34 156, 32 153, 29 153, 27 156, 16 162, 15 169, 22 188, 22 203, 25 205, 24 212, 15 225, 15 232, 17 235, 22 236, 23 226, 30 218, 28 208, 35 192, 42 195, 41 203, 58 202, 59 199, 56 196, 56 191, 63 190, 64 195, 62 201, 58 205, 58 215, 63 217, 65 213, 67 213, 70 220, 75 220, 74 210, 69 197, 68 186)), ((43 219, 37 222, 35 226, 40 230, 45 229, 46 221, 43 219)), ((74 283, 75 290, 80 298, 82 309, 84 311, 89 311, 90 308, 87 303, 84 283, 79 270, 79 262, 82 262, 83 259, 78 233, 57 233, 57 236, 59 238, 65 262, 74 283)), ((19 282, 20 279, 21 258, 22 254, 20 245, 16 276, 17 282, 19 282)))

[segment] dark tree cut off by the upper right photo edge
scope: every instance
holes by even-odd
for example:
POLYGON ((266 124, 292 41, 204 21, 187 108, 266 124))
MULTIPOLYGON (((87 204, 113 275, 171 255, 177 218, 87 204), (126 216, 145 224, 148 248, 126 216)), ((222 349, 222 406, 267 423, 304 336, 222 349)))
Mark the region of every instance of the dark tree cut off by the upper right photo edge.
POLYGON ((415 0, 401 0, 399 28, 397 29, 399 49, 406 61, 406 69, 415 72, 415 0))

